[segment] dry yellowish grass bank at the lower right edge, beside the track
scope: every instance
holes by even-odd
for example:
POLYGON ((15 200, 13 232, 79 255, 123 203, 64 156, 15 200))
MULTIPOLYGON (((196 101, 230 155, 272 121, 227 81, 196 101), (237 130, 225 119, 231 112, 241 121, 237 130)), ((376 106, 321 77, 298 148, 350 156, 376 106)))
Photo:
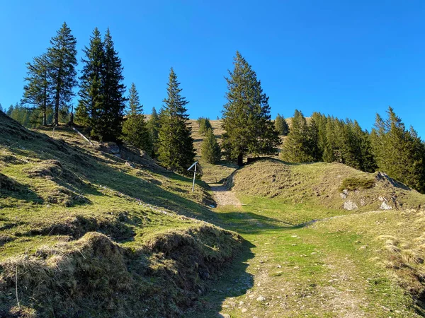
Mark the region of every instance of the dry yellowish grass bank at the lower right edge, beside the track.
POLYGON ((425 308, 425 214, 423 211, 370 211, 324 220, 312 225, 326 233, 361 235, 370 260, 394 277, 425 308))

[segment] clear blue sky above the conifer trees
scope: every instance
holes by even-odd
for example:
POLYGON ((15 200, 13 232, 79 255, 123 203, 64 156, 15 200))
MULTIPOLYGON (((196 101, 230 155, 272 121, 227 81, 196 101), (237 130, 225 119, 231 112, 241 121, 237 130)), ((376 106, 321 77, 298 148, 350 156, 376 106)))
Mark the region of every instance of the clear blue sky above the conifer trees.
POLYGON ((370 129, 389 105, 425 139, 425 1, 2 1, 0 103, 20 100, 26 61, 66 21, 81 49, 111 29, 125 84, 157 110, 174 67, 191 118, 215 119, 239 50, 272 116, 318 111, 370 129))

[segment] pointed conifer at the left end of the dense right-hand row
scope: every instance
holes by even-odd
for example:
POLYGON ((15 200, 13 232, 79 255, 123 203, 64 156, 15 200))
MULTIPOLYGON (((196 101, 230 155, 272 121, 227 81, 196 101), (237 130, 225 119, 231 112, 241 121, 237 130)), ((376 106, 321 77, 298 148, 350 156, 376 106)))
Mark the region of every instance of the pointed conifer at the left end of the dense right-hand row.
POLYGON ((283 143, 280 155, 283 160, 290 163, 310 163, 315 159, 315 148, 312 148, 313 140, 312 131, 307 125, 304 115, 295 110, 292 126, 285 143, 283 143))

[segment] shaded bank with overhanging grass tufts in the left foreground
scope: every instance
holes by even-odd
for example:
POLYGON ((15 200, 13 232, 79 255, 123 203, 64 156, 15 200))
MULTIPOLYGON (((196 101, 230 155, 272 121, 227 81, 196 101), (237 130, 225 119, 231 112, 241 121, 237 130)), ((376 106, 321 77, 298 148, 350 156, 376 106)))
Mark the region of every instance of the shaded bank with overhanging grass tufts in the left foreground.
POLYGON ((0 263, 0 315, 18 312, 18 300, 33 310, 32 317, 179 315, 239 245, 237 236, 223 233, 204 225, 158 235, 132 250, 88 232, 71 243, 6 259, 0 263), (205 237, 216 249, 201 242, 205 237))

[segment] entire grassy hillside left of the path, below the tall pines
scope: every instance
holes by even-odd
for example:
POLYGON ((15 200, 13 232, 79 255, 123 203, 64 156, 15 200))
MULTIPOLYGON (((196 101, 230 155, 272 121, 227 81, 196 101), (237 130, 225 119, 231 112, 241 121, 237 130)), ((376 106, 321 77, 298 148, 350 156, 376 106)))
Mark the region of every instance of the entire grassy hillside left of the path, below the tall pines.
POLYGON ((0 317, 172 317, 240 249, 205 184, 0 112, 0 317))

